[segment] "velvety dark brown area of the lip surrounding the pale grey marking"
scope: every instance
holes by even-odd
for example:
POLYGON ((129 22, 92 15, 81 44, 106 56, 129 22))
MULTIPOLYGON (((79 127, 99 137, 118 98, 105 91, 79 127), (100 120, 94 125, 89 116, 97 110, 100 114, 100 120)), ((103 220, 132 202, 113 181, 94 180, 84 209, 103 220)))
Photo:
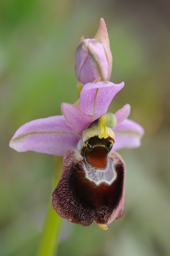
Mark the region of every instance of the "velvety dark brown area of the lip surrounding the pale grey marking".
POLYGON ((112 153, 110 159, 115 162, 116 180, 111 186, 96 186, 85 178, 82 156, 74 150, 67 151, 61 179, 53 192, 53 208, 58 215, 83 226, 92 221, 107 223, 122 197, 124 179, 124 164, 117 153, 112 153))

